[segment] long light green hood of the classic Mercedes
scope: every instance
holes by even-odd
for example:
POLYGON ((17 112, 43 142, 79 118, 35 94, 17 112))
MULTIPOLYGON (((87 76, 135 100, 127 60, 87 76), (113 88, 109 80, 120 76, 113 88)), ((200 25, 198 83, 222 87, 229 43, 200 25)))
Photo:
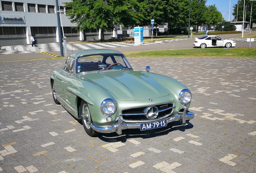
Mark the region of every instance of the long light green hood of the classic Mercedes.
POLYGON ((169 91, 150 78, 147 72, 93 72, 79 76, 100 85, 120 100, 153 99, 169 95, 169 91))

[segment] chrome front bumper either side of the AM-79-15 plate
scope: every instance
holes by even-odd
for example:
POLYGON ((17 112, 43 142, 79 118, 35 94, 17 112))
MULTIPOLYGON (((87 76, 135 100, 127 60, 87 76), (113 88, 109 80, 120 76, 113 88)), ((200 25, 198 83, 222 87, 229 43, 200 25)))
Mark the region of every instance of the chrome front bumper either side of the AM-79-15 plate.
MULTIPOLYGON (((191 120, 194 118, 194 113, 187 112, 186 106, 183 107, 184 112, 182 114, 173 115, 166 119, 167 124, 173 121, 180 121, 185 124, 186 120, 191 120)), ((140 129, 140 123, 136 124, 126 124, 121 122, 121 118, 117 118, 117 123, 114 126, 108 127, 97 127, 93 123, 91 123, 91 128, 99 133, 114 133, 116 132, 118 135, 122 134, 122 130, 124 129, 140 129)))

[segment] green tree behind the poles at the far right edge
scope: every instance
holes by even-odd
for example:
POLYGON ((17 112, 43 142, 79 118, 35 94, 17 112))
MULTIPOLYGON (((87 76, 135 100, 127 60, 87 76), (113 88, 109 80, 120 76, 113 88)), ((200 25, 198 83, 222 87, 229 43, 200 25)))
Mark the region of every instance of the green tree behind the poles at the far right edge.
POLYGON ((244 0, 238 0, 237 4, 235 4, 233 8, 234 8, 234 11, 232 14, 234 16, 234 19, 233 19, 234 22, 235 21, 242 22, 244 13, 246 14, 244 21, 250 22, 251 10, 252 10, 251 27, 250 27, 252 28, 252 23, 256 23, 256 1, 245 0, 245 6, 244 6, 244 0), (237 5, 238 5, 238 11, 237 11, 237 5))

